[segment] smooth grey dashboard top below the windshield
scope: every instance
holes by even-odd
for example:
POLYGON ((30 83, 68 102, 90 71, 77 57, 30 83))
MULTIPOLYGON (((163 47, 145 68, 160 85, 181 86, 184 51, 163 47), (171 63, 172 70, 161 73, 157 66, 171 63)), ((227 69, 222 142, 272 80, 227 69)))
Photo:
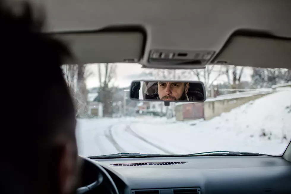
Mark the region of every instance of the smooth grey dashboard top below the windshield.
POLYGON ((117 175, 113 178, 116 182, 121 179, 126 184, 124 193, 137 189, 189 187, 199 187, 201 194, 291 193, 291 163, 281 157, 199 156, 96 161, 117 175), (186 163, 164 164, 169 162, 186 163), (139 166, 112 165, 130 163, 139 166), (161 165, 154 165, 156 163, 161 165))

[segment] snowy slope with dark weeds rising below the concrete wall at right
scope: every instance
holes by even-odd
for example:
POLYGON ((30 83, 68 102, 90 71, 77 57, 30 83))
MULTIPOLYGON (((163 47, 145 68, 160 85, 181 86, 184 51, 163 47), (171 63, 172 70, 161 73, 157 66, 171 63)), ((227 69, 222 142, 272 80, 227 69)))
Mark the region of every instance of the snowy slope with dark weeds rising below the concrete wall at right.
POLYGON ((291 139, 291 91, 281 91, 248 102, 209 122, 216 127, 235 127, 238 133, 250 137, 291 139), (224 122, 222 122, 224 121, 224 122))

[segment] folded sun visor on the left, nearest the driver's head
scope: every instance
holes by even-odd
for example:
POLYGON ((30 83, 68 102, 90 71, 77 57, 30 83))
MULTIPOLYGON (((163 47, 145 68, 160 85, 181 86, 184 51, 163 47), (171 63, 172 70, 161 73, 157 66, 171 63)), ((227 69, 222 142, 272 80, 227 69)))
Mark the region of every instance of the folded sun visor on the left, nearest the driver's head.
POLYGON ((145 47, 140 30, 110 30, 53 34, 65 41, 74 53, 75 63, 139 62, 145 47))

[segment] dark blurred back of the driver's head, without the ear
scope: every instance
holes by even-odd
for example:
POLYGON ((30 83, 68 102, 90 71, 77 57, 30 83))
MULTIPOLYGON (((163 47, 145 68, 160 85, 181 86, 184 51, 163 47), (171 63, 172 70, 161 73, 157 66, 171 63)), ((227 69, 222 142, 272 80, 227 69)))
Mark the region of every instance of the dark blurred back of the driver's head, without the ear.
POLYGON ((61 133, 75 141, 75 108, 61 68, 72 55, 43 32, 43 15, 27 2, 20 8, 13 12, 0 0, 1 190, 32 193, 57 178, 52 141, 61 133))

